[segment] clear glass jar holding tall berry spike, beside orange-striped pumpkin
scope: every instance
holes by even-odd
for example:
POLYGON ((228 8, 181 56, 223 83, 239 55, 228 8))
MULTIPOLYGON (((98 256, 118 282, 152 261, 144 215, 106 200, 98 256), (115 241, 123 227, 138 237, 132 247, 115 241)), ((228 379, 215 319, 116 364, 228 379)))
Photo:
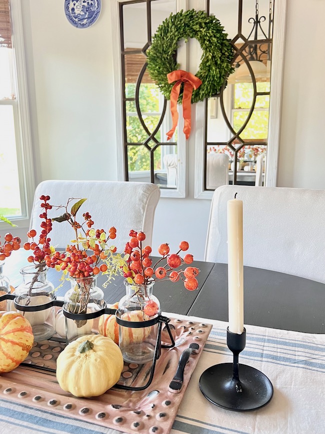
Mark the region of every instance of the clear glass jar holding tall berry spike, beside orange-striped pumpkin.
MULTIPOLYGON (((16 304, 22 306, 39 306, 55 300, 54 285, 47 280, 47 269, 36 270, 33 265, 20 270, 22 283, 14 290, 16 304)), ((11 301, 11 306, 13 302, 11 301)), ((34 312, 19 309, 30 322, 35 342, 49 339, 55 333, 54 306, 34 312)))

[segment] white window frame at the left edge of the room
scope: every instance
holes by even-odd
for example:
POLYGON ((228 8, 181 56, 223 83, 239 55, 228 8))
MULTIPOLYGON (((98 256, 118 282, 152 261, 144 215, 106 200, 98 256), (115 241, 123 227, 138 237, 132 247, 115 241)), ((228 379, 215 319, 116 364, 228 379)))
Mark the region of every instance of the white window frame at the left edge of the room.
MULTIPOLYGON (((35 184, 32 164, 22 14, 19 0, 10 0, 10 16, 16 99, 0 100, 0 105, 11 105, 14 117, 21 216, 12 216, 10 220, 19 228, 28 228, 29 210, 33 200, 35 184)), ((0 230, 8 230, 8 228, 6 223, 0 222, 0 230)))

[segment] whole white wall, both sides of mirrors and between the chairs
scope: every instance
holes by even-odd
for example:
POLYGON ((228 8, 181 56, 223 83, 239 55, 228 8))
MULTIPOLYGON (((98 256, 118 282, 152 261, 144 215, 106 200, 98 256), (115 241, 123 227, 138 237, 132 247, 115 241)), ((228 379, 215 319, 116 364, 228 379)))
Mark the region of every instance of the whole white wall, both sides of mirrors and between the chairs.
MULTIPOLYGON (((64 2, 21 3, 36 182, 117 179, 111 50, 117 36, 111 36, 109 2, 102 2, 101 15, 89 29, 68 23, 64 2)), ((325 2, 287 3, 278 185, 325 189, 325 2)), ((193 135, 187 159, 187 197, 160 199, 152 246, 170 242, 176 248, 185 239, 202 259, 210 201, 193 199, 193 135)))

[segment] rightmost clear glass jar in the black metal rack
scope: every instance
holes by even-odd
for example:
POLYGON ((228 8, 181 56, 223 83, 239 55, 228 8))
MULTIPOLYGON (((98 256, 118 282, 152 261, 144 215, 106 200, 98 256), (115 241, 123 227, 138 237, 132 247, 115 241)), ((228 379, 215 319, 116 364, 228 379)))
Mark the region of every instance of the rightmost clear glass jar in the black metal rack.
MULTIPOLYGON (((152 295, 154 282, 143 285, 124 281, 126 295, 118 303, 117 316, 124 321, 147 321, 160 314, 160 303, 152 295)), ((149 327, 118 325, 119 348, 125 361, 146 363, 154 357, 158 323, 149 327)))

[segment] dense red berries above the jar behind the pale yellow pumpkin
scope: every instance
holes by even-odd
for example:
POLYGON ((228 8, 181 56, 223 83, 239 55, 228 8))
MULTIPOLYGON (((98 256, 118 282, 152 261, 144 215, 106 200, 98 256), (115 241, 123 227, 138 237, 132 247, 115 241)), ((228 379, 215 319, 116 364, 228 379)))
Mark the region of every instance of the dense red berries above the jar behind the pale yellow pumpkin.
MULTIPOLYGON (((86 214, 89 215, 88 213, 86 214)), ((91 216, 89 216, 89 219, 90 218, 91 216)), ((86 237, 88 236, 89 230, 86 231, 86 237)), ((99 265, 101 260, 106 259, 106 255, 104 253, 105 249, 101 247, 101 244, 106 244, 109 239, 113 239, 115 237, 116 229, 114 227, 109 229, 107 237, 103 229, 97 229, 95 231, 95 238, 100 241, 91 245, 90 240, 86 239, 84 241, 84 250, 79 249, 78 243, 71 244, 66 247, 65 252, 63 253, 55 252, 53 256, 45 256, 45 263, 48 267, 56 267, 61 271, 66 270, 69 276, 74 278, 89 277, 99 274, 100 271, 104 273, 107 271, 107 265, 105 263, 99 265), (101 236, 101 234, 104 234, 104 236, 101 236), (92 250, 93 253, 88 255, 87 250, 92 250)), ((116 251, 116 248, 112 249, 111 251, 116 251)))

